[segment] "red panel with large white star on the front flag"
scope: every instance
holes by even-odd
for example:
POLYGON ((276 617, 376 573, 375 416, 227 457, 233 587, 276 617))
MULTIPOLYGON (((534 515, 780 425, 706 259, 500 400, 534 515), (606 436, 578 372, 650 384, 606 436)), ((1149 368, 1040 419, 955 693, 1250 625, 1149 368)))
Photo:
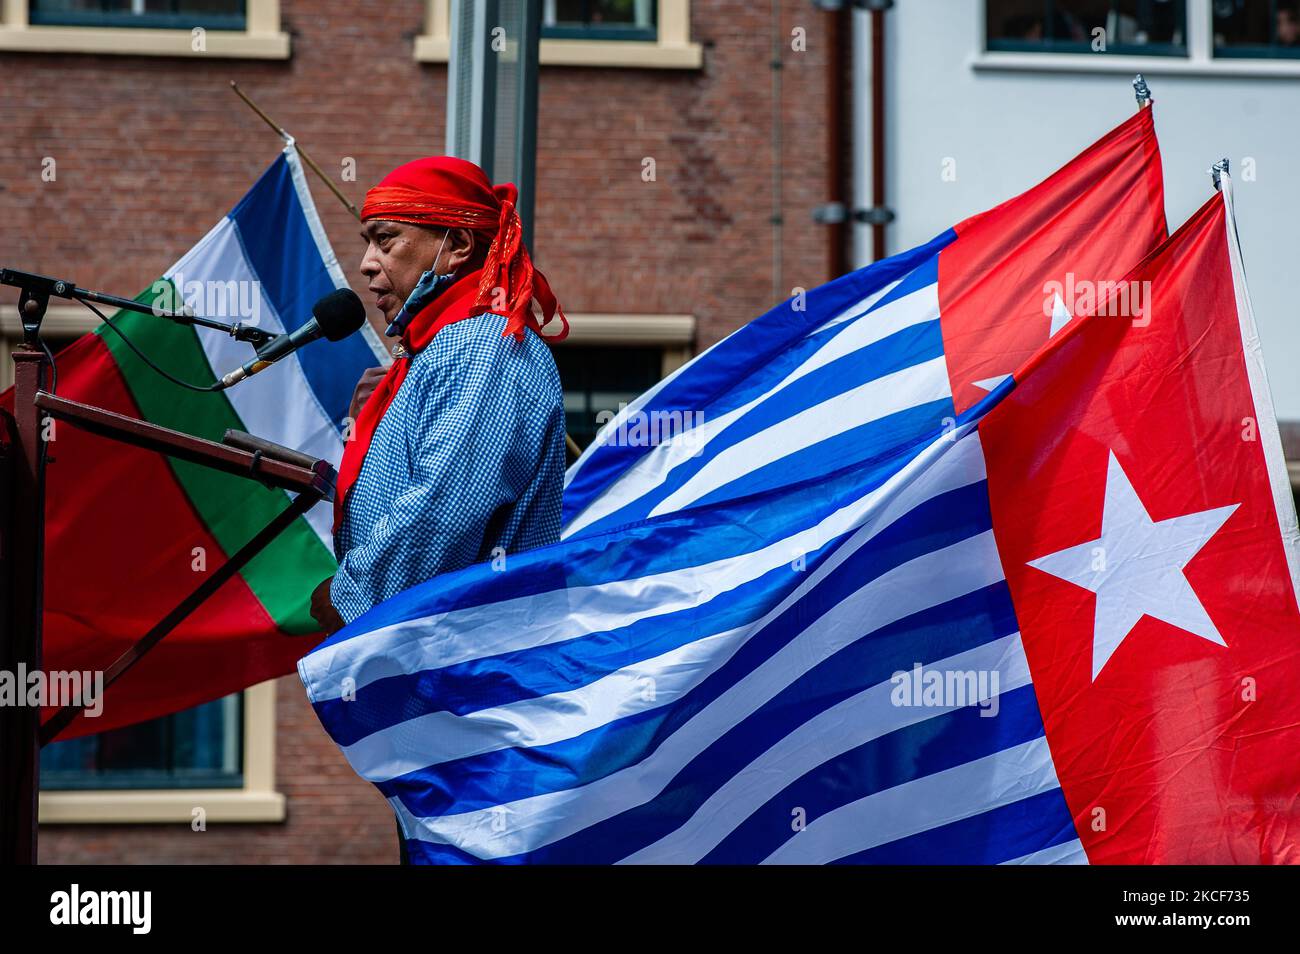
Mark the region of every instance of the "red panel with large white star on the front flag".
POLYGON ((1231 183, 980 425, 1046 738, 1093 863, 1300 862, 1295 506, 1231 183))

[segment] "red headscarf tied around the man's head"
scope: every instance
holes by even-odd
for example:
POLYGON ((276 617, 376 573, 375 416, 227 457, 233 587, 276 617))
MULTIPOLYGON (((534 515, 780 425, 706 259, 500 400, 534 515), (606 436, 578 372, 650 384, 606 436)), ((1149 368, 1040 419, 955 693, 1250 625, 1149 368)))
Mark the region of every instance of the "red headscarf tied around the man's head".
POLYGON ((533 324, 536 300, 542 309, 542 328, 559 316, 562 329, 554 337, 563 341, 568 320, 524 247, 517 200, 519 190, 512 183, 494 187, 473 162, 430 156, 399 165, 367 192, 361 221, 380 218, 477 233, 490 244, 469 313, 504 315, 504 334, 523 341, 524 329, 533 324))

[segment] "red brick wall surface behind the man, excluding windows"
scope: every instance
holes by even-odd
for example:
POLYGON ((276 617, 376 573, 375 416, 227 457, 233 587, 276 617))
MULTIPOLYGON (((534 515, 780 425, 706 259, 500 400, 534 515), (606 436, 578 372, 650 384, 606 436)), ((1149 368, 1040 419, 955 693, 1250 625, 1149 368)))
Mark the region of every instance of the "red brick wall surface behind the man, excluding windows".
MULTIPOLYGON (((412 57, 421 0, 282 0, 287 62, 0 55, 0 263, 120 294, 144 289, 248 188, 278 139, 237 79, 360 204, 394 165, 443 143, 446 70, 412 57), (361 10, 359 13, 358 10, 361 10), (42 182, 42 160, 57 179, 42 182)), ((828 274, 835 195, 826 66, 831 14, 786 3, 694 0, 699 71, 543 68, 536 244, 571 312, 698 317, 705 347, 828 274), (806 52, 790 49, 803 27, 806 52), (772 99, 772 48, 783 92, 772 99), (781 196, 774 208, 775 121, 781 196), (656 181, 642 181, 655 160, 656 181), (780 243, 774 213, 784 220, 780 243), (775 274, 777 255, 780 276, 775 274)), ((351 216, 312 181, 358 291, 351 216)), ((16 295, 0 291, 0 307, 16 295)), ((386 860, 391 816, 324 737, 296 680, 280 693, 283 825, 78 827, 42 833, 43 860, 386 860)))

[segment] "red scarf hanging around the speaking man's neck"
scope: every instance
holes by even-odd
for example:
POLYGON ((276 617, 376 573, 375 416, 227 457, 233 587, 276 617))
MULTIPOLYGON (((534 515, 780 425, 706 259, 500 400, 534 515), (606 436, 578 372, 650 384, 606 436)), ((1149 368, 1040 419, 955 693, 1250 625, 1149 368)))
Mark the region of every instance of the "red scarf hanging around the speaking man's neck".
MULTIPOLYGON (((481 273, 471 272, 458 278, 451 287, 446 289, 433 302, 424 307, 407 325, 402 334, 402 354, 389 365, 387 373, 376 385, 374 391, 361 407, 352 429, 352 439, 343 446, 343 460, 338 465, 338 481, 334 486, 334 533, 343 521, 343 503, 348 491, 356 483, 358 474, 361 473, 361 464, 374 439, 374 430, 380 426, 389 404, 396 396, 398 389, 406 381, 407 370, 411 368, 411 356, 424 350, 443 328, 454 321, 462 321, 478 312, 473 303, 477 300, 481 286, 481 273)), ((538 330, 533 316, 525 317, 525 326, 538 330)))

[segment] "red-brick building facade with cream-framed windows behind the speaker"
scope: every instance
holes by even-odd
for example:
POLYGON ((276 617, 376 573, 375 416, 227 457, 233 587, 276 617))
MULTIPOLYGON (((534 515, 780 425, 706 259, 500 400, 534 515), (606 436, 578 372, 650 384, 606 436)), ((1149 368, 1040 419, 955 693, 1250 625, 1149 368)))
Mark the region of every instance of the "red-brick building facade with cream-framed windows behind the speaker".
MULTIPOLYGON (((811 209, 836 198, 826 91, 838 18, 742 0, 543 10, 534 248, 573 325, 556 359, 581 441, 599 409, 831 277, 836 229, 811 209)), ((281 148, 231 79, 360 205, 389 169, 442 151, 448 17, 446 0, 3 0, 0 263, 147 287, 281 148)), ((356 222, 311 186, 364 292, 356 222)), ((47 334, 92 328, 79 311, 52 305, 47 334)), ((391 812, 295 676, 56 750, 43 862, 396 855, 391 812)))

